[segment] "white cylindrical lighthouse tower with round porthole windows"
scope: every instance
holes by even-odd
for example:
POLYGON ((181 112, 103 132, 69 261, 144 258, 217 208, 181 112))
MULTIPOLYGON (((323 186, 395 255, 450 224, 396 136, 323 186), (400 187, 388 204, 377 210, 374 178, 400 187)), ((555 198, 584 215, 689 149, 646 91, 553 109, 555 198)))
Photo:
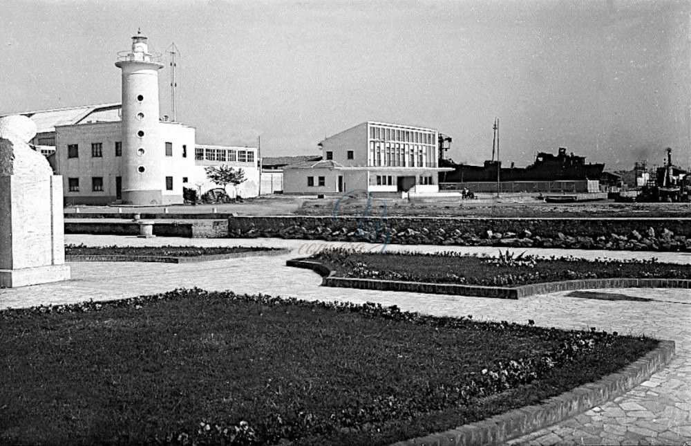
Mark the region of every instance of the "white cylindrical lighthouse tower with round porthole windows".
POLYGON ((118 53, 122 69, 122 203, 163 204, 164 146, 158 106, 160 55, 149 53, 146 37, 132 37, 132 50, 118 53))

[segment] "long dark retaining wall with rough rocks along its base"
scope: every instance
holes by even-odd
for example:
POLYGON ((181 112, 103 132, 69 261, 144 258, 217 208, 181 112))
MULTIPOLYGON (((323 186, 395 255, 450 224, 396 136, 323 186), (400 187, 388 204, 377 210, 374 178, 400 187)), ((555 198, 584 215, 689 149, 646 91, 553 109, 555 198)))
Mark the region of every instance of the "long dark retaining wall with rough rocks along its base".
POLYGON ((691 224, 683 219, 340 218, 343 225, 332 216, 235 216, 228 230, 231 238, 373 241, 379 225, 377 243, 388 230, 388 243, 402 245, 691 251, 691 224))

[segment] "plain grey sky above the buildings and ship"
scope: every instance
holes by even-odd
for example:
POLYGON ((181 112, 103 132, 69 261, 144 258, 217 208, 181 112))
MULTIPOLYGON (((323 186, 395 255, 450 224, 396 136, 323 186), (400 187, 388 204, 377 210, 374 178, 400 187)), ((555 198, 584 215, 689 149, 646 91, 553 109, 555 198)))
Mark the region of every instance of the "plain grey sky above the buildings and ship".
MULTIPOLYGON (((0 114, 120 102, 138 28, 178 57, 197 142, 319 154, 366 120, 431 127, 448 157, 607 170, 691 165, 691 3, 677 0, 34 1, 3 6, 0 114)), ((169 68, 160 71, 169 114, 169 68)))

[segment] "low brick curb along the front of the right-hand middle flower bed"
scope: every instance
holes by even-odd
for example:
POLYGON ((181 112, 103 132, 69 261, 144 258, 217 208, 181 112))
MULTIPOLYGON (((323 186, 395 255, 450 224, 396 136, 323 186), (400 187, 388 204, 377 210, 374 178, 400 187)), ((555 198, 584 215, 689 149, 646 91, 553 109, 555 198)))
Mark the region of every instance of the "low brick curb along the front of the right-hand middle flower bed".
POLYGON ((636 279, 617 277, 614 279, 578 279, 543 284, 529 284, 513 288, 501 286, 431 284, 424 282, 356 279, 334 277, 334 272, 316 261, 292 259, 286 266, 314 270, 322 276, 322 286, 360 288, 364 290, 425 292, 430 294, 461 295, 471 297, 494 297, 498 299, 519 299, 555 291, 587 290, 594 288, 691 288, 690 279, 636 279))

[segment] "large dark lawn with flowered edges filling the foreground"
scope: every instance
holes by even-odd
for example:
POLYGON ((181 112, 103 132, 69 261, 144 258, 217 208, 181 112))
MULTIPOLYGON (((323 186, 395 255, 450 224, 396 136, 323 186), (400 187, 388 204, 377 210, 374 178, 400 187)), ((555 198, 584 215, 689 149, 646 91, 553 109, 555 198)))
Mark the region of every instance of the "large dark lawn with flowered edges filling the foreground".
POLYGON ((0 443, 384 445, 558 395, 656 344, 202 290, 5 310, 0 443))

